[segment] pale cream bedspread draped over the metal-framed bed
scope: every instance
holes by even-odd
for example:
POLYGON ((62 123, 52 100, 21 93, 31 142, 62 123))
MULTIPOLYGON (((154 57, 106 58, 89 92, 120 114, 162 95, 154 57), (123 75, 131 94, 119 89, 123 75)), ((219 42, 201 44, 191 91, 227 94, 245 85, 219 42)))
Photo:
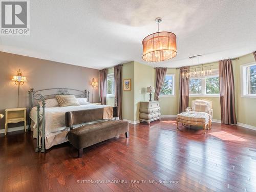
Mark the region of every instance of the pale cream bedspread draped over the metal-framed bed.
MULTIPOLYGON (((45 134, 46 137, 55 132, 59 132, 66 129, 65 126, 65 113, 68 111, 79 111, 79 110, 87 110, 87 109, 97 109, 103 108, 103 105, 97 104, 86 104, 86 105, 73 105, 73 106, 56 106, 52 108, 45 108, 45 134)), ((42 113, 42 108, 40 108, 40 114, 42 113)), ((33 128, 36 128, 37 122, 37 111, 36 106, 34 106, 30 113, 30 118, 33 122, 35 122, 33 128)))

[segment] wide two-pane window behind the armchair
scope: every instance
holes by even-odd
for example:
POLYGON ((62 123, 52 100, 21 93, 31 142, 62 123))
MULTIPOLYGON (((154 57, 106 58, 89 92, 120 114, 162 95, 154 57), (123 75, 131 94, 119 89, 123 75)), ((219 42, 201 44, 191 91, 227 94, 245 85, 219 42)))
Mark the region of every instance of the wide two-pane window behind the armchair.
POLYGON ((219 86, 219 71, 212 70, 211 76, 189 79, 189 96, 219 96, 219 86))

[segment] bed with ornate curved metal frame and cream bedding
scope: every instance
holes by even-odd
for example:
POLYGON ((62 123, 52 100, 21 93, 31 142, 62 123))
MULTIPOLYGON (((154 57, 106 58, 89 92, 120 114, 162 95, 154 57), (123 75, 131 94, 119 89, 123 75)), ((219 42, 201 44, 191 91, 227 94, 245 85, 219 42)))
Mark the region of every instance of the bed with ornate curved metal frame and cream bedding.
MULTIPOLYGON (((50 147, 67 142, 69 128, 65 126, 65 113, 87 109, 103 108, 103 105, 86 103, 72 106, 46 107, 46 99, 56 95, 74 95, 77 98, 87 98, 90 92, 67 88, 54 88, 34 91, 29 90, 29 130, 33 131, 33 137, 37 139, 35 151, 45 152, 50 147), (39 102, 41 102, 39 104, 39 102)), ((77 125, 80 126, 80 125, 77 125)))

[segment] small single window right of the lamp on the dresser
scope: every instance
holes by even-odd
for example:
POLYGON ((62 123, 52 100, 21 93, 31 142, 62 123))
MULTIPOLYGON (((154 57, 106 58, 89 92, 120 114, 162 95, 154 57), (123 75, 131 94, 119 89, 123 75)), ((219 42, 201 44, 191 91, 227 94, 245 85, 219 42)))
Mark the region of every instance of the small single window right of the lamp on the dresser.
POLYGON ((166 74, 159 96, 175 96, 175 74, 166 74))

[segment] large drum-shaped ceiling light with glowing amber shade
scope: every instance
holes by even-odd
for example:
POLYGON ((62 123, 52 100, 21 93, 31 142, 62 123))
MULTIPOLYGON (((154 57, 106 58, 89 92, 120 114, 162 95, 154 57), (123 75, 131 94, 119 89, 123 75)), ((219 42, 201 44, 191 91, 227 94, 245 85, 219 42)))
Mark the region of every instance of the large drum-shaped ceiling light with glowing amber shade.
POLYGON ((177 55, 176 35, 171 32, 159 32, 159 23, 161 22, 162 18, 156 18, 158 32, 152 33, 142 40, 142 59, 147 62, 166 61, 177 55))

